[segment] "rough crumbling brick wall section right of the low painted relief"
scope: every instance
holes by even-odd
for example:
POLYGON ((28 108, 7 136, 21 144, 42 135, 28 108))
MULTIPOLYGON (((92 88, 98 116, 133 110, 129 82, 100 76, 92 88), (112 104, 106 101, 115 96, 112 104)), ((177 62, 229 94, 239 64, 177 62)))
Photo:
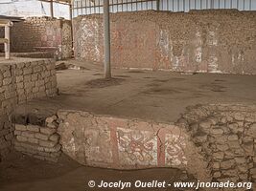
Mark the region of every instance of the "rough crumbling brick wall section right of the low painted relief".
POLYGON ((190 133, 208 161, 212 180, 255 182, 255 105, 198 105, 176 125, 190 133))

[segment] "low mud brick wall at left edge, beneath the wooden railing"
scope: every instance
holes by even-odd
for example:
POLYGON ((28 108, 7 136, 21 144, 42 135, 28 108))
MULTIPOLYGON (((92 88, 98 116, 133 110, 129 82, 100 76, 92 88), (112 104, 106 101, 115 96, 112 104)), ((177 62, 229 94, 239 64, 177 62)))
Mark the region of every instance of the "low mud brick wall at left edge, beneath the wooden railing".
POLYGON ((14 126, 12 112, 19 103, 57 94, 55 62, 51 59, 0 61, 0 159, 9 153, 14 126))

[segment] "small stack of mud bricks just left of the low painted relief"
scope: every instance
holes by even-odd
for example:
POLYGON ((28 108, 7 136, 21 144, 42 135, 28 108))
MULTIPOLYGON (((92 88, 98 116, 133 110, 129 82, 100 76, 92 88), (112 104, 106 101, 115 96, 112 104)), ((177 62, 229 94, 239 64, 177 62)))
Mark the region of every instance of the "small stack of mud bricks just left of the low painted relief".
POLYGON ((58 161, 61 147, 56 119, 56 116, 47 117, 43 125, 33 124, 31 120, 29 124, 15 124, 14 149, 37 159, 58 161))

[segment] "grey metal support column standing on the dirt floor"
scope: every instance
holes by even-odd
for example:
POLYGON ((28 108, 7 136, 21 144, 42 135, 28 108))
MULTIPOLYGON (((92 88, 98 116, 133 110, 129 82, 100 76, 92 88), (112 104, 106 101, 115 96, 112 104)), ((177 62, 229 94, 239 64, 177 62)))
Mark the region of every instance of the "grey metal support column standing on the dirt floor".
POLYGON ((105 53, 105 78, 111 77, 110 66, 110 28, 109 28, 109 0, 104 0, 104 53, 105 53))

